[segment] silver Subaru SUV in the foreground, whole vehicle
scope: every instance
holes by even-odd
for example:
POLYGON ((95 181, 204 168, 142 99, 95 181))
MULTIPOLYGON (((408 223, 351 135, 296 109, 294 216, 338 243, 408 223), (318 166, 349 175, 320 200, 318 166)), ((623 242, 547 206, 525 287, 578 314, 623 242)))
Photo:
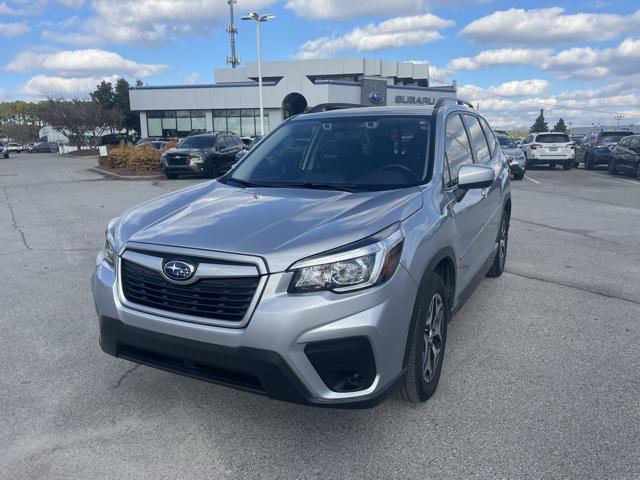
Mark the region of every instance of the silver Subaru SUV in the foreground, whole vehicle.
POLYGON ((422 402, 452 315, 504 269, 510 213, 509 165, 465 102, 299 115, 111 221, 100 345, 291 402, 422 402))

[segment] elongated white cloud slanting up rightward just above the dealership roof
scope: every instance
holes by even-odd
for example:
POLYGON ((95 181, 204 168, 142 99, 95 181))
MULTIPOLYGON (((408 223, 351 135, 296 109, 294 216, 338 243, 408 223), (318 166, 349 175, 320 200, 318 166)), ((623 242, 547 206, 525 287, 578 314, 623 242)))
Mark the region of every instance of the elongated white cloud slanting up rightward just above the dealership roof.
POLYGON ((356 27, 338 37, 321 37, 305 42, 297 58, 325 58, 344 50, 373 51, 389 47, 420 45, 440 40, 439 30, 454 24, 430 13, 396 17, 378 24, 356 27))

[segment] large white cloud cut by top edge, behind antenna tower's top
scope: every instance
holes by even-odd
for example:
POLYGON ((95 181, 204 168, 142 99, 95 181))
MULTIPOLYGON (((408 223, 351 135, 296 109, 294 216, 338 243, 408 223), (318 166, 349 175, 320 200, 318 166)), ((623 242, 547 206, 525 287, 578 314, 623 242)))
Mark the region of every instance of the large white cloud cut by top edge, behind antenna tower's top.
MULTIPOLYGON (((244 0, 243 10, 261 9, 275 0, 244 0)), ((44 31, 45 40, 76 46, 105 43, 158 45, 183 35, 202 35, 228 21, 221 0, 93 0, 93 16, 78 30, 44 31)))

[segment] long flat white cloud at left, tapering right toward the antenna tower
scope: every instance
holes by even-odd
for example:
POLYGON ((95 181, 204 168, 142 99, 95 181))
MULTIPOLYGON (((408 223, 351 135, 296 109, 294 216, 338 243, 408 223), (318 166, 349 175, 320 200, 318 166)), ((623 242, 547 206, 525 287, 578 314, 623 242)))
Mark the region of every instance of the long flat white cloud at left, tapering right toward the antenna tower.
POLYGON ((39 52, 26 50, 11 60, 5 70, 31 72, 46 70, 62 75, 121 74, 149 77, 168 69, 167 65, 137 63, 115 52, 98 49, 39 52))

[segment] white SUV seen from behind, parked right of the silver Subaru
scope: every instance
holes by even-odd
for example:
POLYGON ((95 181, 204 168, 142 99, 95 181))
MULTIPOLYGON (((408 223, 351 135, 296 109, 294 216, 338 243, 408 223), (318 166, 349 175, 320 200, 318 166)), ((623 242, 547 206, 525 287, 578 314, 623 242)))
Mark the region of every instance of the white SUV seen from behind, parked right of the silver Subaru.
POLYGON ((563 132, 530 133, 520 148, 527 159, 527 167, 544 164, 555 168, 560 164, 570 170, 576 158, 576 146, 563 132))

